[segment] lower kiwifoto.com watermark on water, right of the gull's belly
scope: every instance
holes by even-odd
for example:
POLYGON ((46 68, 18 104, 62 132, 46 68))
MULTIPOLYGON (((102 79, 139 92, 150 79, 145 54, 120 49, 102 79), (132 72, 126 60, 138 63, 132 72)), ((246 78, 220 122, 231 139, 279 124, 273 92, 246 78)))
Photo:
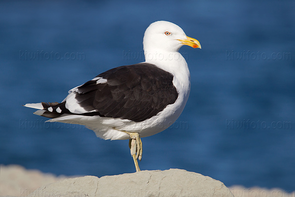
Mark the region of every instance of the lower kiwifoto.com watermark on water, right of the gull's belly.
POLYGON ((243 120, 225 120, 225 128, 232 130, 291 130, 291 121, 252 121, 250 119, 243 120))

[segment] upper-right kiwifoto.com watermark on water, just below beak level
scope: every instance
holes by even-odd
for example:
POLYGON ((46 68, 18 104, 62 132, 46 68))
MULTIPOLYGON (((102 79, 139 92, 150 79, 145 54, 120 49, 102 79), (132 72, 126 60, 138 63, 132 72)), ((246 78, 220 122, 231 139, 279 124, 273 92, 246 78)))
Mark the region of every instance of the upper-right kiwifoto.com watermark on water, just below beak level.
POLYGON ((280 60, 280 61, 290 61, 292 60, 292 53, 290 52, 253 52, 250 50, 235 51, 235 50, 226 50, 225 51, 225 60, 280 60))

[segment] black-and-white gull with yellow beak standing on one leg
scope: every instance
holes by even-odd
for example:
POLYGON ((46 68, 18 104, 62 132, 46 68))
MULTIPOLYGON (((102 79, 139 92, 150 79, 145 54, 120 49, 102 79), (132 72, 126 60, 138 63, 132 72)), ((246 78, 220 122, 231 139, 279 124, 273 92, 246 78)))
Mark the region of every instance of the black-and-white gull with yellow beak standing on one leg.
POLYGON ((178 52, 182 45, 201 48, 177 25, 157 21, 144 35, 146 62, 119 66, 73 88, 60 103, 28 103, 48 122, 85 125, 103 139, 129 139, 136 171, 142 158, 141 137, 170 127, 190 92, 190 73, 178 52))

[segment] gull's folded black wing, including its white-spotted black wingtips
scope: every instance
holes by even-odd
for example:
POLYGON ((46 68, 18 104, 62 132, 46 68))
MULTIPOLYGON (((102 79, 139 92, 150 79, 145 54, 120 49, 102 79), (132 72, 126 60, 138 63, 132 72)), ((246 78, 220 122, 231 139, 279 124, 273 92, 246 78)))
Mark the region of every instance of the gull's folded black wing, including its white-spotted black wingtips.
POLYGON ((47 112, 51 114, 60 110, 59 115, 99 115, 141 122, 176 101, 178 93, 172 81, 171 73, 152 64, 120 66, 73 89, 72 99, 53 106, 51 103, 42 104, 45 109, 53 108, 52 112, 47 112))

